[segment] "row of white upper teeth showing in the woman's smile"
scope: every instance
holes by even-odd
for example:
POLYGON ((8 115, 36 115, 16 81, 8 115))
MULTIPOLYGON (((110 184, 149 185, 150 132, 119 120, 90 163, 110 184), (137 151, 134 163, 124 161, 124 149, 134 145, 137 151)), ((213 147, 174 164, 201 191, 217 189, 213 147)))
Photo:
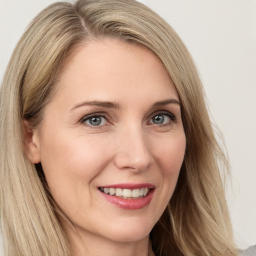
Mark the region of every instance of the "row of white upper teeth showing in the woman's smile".
POLYGON ((141 187, 136 189, 128 189, 128 188, 112 188, 112 187, 100 187, 99 188, 101 192, 104 192, 106 194, 110 195, 116 195, 116 196, 122 196, 124 199, 130 199, 132 198, 138 198, 143 197, 148 194, 149 188, 147 187, 141 187))

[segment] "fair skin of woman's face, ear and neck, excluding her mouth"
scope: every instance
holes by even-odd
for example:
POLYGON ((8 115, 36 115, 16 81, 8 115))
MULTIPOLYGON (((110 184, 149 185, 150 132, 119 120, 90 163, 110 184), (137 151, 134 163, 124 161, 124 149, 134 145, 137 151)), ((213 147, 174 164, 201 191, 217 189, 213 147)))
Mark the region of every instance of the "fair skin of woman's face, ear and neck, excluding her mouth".
POLYGON ((56 88, 27 145, 76 255, 147 256, 149 232, 173 193, 185 151, 180 105, 155 105, 179 100, 172 80, 148 49, 105 38, 77 49, 56 88), (115 107, 82 104, 95 100, 115 107), (100 125, 89 123, 90 114, 103 115, 100 125), (157 114, 163 123, 154 123, 157 114), (98 189, 144 182, 155 186, 153 197, 135 210, 117 207, 98 189))

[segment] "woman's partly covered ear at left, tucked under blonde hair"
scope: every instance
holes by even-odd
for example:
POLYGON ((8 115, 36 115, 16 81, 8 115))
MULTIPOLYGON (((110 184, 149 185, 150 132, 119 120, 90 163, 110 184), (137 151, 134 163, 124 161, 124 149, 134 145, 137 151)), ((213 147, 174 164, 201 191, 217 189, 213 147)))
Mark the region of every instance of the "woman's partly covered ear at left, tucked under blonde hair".
POLYGON ((41 155, 38 129, 31 128, 28 121, 24 120, 23 133, 27 158, 32 163, 39 163, 41 161, 41 155))

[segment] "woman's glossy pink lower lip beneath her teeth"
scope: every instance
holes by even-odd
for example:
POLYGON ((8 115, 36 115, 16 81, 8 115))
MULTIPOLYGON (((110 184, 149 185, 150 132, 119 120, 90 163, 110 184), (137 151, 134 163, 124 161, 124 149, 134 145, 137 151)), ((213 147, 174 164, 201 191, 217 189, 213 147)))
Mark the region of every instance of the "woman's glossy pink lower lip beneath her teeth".
POLYGON ((106 194, 101 191, 99 192, 107 201, 115 204, 116 206, 123 209, 135 210, 135 209, 141 209, 150 203, 153 197, 154 189, 150 189, 147 195, 138 199, 124 199, 115 195, 106 194))

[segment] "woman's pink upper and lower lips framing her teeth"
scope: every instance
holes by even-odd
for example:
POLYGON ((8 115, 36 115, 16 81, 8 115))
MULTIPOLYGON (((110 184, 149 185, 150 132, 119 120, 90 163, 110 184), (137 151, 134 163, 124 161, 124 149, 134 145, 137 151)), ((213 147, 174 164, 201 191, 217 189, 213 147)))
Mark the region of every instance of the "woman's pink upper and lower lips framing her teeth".
POLYGON ((106 194, 98 190, 99 193, 103 196, 103 198, 109 201, 110 203, 120 208, 129 209, 129 210, 141 209, 147 206, 152 200, 153 193, 154 193, 154 185, 151 183, 140 183, 140 184, 122 183, 122 184, 104 185, 102 187, 112 187, 112 188, 122 188, 122 189, 123 188, 137 189, 142 187, 151 188, 147 195, 137 199, 132 199, 132 198, 124 199, 115 195, 106 194))

